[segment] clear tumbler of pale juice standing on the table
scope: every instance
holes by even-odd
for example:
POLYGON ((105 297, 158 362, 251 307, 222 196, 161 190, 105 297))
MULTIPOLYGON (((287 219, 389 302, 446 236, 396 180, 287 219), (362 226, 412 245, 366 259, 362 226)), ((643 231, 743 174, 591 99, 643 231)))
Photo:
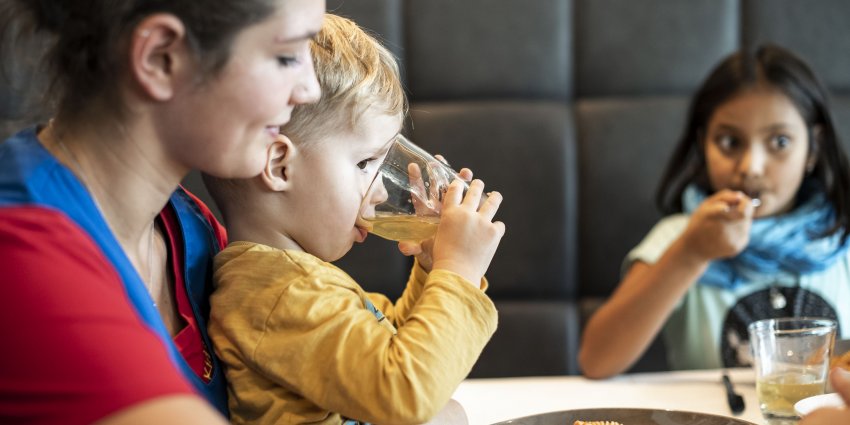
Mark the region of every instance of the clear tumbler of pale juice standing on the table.
POLYGON ((836 326, 833 320, 808 317, 750 324, 756 393, 769 423, 799 420, 794 404, 823 394, 836 326))

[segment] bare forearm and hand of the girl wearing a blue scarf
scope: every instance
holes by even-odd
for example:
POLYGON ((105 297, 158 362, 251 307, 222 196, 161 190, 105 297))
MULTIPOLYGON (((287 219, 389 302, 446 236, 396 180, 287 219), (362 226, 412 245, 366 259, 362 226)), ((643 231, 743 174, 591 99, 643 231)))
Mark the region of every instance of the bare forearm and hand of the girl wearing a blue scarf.
POLYGON ((752 213, 746 196, 720 191, 694 211, 657 263, 635 263, 584 329, 579 363, 585 376, 606 378, 631 366, 709 262, 747 246, 752 213))

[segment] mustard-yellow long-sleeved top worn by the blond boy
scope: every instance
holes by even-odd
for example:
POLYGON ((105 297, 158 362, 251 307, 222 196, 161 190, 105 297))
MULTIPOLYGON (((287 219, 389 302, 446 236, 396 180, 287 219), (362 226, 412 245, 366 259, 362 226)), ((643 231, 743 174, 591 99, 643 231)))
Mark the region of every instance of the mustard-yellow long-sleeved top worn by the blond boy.
POLYGON ((496 330, 486 282, 445 270, 414 265, 393 305, 300 251, 234 242, 214 267, 209 330, 234 424, 427 422, 496 330))

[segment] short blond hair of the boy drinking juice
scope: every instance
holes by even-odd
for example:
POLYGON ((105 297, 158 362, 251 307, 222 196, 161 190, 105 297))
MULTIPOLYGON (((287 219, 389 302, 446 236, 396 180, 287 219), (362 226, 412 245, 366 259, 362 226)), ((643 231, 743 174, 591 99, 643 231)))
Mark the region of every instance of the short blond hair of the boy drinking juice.
POLYGON ((370 107, 407 114, 395 56, 350 19, 326 14, 310 50, 322 95, 316 103, 297 105, 281 129, 293 143, 352 130, 370 107))

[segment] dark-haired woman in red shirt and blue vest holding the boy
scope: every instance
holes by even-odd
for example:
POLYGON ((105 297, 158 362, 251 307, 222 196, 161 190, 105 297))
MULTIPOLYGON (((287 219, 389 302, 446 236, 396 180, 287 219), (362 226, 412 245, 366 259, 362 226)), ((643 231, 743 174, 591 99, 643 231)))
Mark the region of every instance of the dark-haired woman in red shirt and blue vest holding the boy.
POLYGON ((318 98, 323 15, 315 0, 0 4, 0 29, 52 40, 55 113, 0 146, 0 423, 224 422, 206 321, 225 236, 178 185, 260 172, 293 106, 318 98))

